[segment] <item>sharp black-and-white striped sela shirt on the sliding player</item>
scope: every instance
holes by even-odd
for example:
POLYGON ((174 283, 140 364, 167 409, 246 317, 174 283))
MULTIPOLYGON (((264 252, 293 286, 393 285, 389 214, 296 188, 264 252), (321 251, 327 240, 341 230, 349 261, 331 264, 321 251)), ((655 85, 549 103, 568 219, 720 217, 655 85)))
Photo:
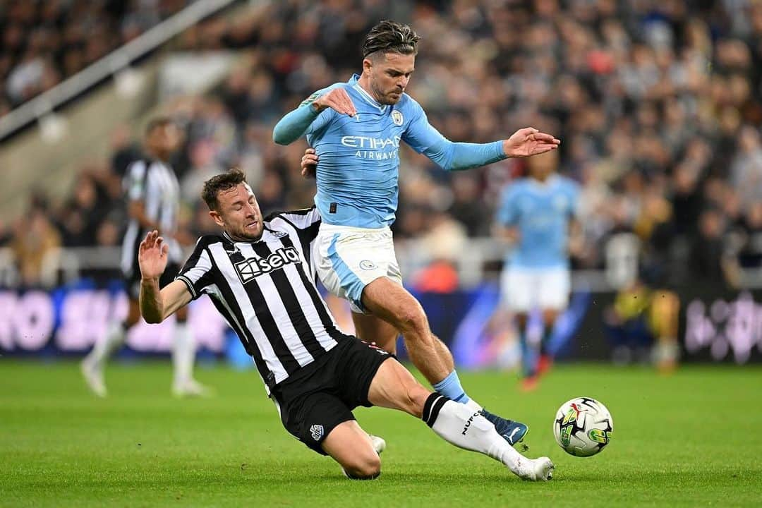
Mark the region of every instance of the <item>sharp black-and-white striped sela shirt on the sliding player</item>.
POLYGON ((258 241, 206 235, 177 279, 206 293, 238 334, 268 388, 348 338, 315 287, 310 245, 317 209, 273 214, 258 241))

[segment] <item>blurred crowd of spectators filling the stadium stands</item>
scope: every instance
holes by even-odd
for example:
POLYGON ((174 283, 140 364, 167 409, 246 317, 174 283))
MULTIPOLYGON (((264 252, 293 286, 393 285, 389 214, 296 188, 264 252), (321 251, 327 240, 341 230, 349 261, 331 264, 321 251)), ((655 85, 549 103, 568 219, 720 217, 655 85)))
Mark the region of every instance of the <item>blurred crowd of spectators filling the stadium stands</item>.
MULTIPOLYGON (((97 2, 72 5, 83 3, 97 2)), ((119 2, 98 4, 90 17, 104 30, 111 3, 119 2)), ((155 20, 184 3, 130 6, 153 5, 145 18, 155 20)), ((11 3, 24 11, 17 4, 26 2, 11 3)), ((43 61, 58 76, 75 72, 70 60, 82 65, 146 26, 133 14, 133 24, 105 30, 103 43, 70 42, 66 24, 50 28, 56 58, 43 61)), ((238 50, 241 59, 211 94, 164 108, 186 135, 174 168, 189 232, 213 229, 200 184, 230 166, 247 172, 263 212, 309 206, 314 182, 299 169, 306 145, 274 145, 272 126, 313 91, 358 72, 361 40, 383 18, 409 22, 421 35, 408 92, 445 136, 488 142, 535 126, 562 139, 559 171, 582 186, 587 241, 575 266, 604 266, 604 245, 622 232, 640 239, 643 273, 658 284, 700 276, 733 286, 738 267, 762 265, 762 4, 744 0, 290 0, 204 21, 174 49, 238 50)), ((12 24, 0 27, 0 75, 16 104, 34 93, 11 93, 11 77, 41 50, 29 43, 31 50, 9 57, 8 41, 18 36, 12 24)), ((34 264, 28 252, 40 245, 118 244, 120 178, 136 139, 119 129, 109 163, 83 168, 61 206, 34 194, 23 219, 0 226, 0 242, 24 264, 34 264)), ((401 156, 396 238, 425 236, 444 244, 442 252, 489 235, 501 187, 524 170, 523 161, 508 160, 450 174, 410 150, 401 156)), ((22 267, 27 283, 34 270, 22 267)))

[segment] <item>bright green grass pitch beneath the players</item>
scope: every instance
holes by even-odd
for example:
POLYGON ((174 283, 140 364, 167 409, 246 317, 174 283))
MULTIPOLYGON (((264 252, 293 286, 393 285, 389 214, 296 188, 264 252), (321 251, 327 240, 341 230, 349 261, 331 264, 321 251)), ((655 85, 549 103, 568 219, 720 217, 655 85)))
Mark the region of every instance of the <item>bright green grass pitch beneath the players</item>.
POLYGON ((356 411, 383 436, 383 473, 349 481, 288 435, 255 372, 198 369, 215 398, 175 400, 168 363, 115 364, 110 398, 70 362, 0 359, 0 506, 760 506, 762 369, 559 366, 531 394, 501 372, 461 375, 491 411, 530 425, 527 455, 549 483, 456 449, 424 423, 356 411), (614 418, 600 455, 566 455, 552 436, 562 402, 599 398, 614 418))

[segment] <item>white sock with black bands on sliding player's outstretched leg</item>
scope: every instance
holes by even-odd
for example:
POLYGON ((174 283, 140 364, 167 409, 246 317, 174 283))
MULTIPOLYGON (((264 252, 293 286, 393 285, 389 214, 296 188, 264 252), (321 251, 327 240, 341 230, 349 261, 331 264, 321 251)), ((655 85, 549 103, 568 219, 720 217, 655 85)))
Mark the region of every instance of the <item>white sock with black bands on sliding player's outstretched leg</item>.
POLYGON ((472 411, 466 404, 450 401, 443 395, 434 393, 427 398, 422 420, 447 443, 488 455, 515 474, 519 474, 522 462, 530 462, 501 438, 495 426, 479 411, 472 411))

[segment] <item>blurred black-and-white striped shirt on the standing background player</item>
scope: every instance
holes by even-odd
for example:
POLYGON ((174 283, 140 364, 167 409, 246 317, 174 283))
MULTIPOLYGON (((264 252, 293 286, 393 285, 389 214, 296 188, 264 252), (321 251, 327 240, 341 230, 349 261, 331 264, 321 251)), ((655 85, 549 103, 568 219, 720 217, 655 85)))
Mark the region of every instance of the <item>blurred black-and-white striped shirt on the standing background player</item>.
MULTIPOLYGON (((158 224, 169 247, 169 259, 181 263, 180 244, 171 237, 178 227, 180 209, 180 184, 174 171, 162 161, 139 159, 127 168, 124 179, 127 199, 142 201, 146 217, 158 224)), ((148 231, 136 219, 130 219, 122 244, 122 272, 130 276, 137 266, 140 241, 148 231)))

